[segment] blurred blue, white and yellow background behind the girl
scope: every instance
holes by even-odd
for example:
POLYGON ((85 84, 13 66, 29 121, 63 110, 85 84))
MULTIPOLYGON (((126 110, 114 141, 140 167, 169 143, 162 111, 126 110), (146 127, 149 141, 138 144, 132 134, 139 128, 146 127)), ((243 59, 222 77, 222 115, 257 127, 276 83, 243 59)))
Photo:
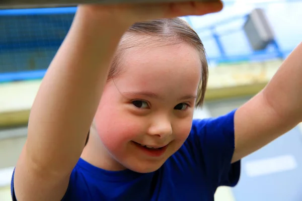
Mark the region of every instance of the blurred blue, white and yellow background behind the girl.
MULTIPOLYGON (((220 13, 183 17, 203 41, 210 67, 206 102, 194 118, 216 117, 240 107, 265 86, 302 39, 302 1, 224 4, 220 13)), ((1 201, 11 200, 11 175, 26 140, 31 105, 75 11, 0 10, 1 201)), ((239 184, 219 187, 215 201, 302 200, 301 129, 297 126, 244 158, 239 184)))

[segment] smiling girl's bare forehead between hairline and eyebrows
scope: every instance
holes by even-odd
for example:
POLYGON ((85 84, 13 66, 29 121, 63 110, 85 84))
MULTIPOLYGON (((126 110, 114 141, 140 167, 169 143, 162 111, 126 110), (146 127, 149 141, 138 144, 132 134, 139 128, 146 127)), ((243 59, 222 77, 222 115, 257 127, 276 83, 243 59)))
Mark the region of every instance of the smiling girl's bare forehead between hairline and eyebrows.
POLYGON ((119 88, 131 90, 194 90, 201 77, 198 52, 186 44, 128 49, 122 59, 119 88))

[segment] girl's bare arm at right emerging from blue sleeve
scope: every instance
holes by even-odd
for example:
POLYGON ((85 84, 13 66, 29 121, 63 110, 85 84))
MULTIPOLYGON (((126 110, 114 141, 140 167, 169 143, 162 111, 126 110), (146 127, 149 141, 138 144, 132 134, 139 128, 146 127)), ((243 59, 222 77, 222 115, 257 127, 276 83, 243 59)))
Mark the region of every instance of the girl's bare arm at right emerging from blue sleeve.
POLYGON ((260 149, 302 121, 302 43, 268 85, 235 114, 233 162, 260 149))

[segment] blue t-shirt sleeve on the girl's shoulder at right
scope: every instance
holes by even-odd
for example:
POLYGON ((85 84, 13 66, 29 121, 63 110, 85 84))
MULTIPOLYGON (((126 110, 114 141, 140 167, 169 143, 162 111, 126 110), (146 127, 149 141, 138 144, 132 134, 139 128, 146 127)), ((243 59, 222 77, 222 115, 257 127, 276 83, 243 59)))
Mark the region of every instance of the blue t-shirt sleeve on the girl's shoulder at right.
POLYGON ((235 150, 234 115, 231 113, 203 120, 193 120, 189 138, 213 190, 218 186, 235 186, 240 177, 240 161, 231 164, 235 150))

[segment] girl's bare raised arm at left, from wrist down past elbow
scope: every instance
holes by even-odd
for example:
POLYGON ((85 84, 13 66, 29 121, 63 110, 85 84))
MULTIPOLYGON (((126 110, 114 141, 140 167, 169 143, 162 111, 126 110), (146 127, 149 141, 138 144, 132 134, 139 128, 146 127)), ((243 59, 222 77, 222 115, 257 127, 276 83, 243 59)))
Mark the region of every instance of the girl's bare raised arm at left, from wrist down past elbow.
POLYGON ((15 169, 18 200, 62 198, 83 151, 112 55, 127 28, 105 14, 79 8, 31 110, 28 139, 15 169))

